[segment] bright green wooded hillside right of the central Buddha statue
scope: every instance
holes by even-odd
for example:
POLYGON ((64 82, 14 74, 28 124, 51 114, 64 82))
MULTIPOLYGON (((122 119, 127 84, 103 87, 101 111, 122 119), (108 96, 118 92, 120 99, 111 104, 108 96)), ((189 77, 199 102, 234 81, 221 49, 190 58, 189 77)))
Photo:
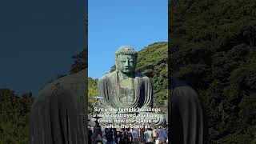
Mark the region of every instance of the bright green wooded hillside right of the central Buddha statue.
POLYGON ((154 86, 154 107, 167 113, 168 90, 168 45, 167 42, 156 42, 138 51, 137 71, 151 79, 154 86))

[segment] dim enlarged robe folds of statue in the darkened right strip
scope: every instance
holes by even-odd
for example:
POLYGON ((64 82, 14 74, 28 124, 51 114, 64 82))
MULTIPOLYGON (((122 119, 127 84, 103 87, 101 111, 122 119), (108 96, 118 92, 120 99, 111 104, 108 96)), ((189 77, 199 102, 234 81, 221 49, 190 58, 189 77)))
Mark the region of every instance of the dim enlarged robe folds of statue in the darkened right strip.
POLYGON ((172 80, 169 133, 172 144, 206 144, 208 127, 206 113, 198 94, 185 82, 172 80))

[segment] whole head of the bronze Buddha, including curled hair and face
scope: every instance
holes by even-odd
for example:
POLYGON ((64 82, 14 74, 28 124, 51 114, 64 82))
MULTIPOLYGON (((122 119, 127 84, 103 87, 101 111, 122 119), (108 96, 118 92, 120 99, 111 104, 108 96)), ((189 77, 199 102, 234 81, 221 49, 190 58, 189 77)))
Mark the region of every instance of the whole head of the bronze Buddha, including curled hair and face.
POLYGON ((121 46, 115 52, 116 69, 123 74, 132 74, 137 64, 138 53, 131 46, 121 46))

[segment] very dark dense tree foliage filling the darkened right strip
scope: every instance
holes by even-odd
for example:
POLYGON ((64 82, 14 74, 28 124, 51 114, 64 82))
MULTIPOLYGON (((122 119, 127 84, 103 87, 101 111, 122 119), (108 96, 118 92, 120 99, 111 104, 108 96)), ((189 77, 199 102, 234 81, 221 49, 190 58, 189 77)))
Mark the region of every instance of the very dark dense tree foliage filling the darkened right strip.
POLYGON ((256 2, 170 6, 170 68, 198 90, 210 143, 256 142, 256 2))

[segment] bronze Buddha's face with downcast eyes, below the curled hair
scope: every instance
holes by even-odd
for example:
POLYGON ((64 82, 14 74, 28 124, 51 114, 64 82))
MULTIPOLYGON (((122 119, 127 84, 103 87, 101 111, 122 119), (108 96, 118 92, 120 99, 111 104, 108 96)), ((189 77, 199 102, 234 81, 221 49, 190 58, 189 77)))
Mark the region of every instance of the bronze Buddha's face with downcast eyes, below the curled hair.
POLYGON ((116 67, 123 74, 131 74, 136 67, 137 59, 134 55, 119 54, 116 59, 116 67))

